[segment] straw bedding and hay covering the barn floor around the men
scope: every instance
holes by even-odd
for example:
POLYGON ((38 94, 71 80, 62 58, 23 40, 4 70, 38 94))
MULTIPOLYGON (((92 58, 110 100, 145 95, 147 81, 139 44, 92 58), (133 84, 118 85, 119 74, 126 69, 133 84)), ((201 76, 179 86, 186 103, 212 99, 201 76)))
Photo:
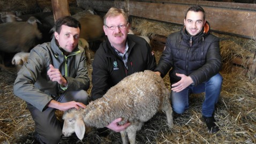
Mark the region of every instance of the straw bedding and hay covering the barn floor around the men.
MULTIPOLYGON (((153 39, 152 36, 156 33, 165 35, 180 29, 180 26, 176 25, 138 21, 132 22, 135 34, 146 35, 150 39, 153 39), (147 26, 137 25, 143 23, 147 26), (141 29, 148 29, 151 34, 141 29)), ((202 93, 190 97, 189 110, 182 115, 174 115, 174 128, 171 130, 166 126, 165 114, 157 113, 137 132, 137 143, 256 143, 256 78, 244 74, 247 71, 246 66, 231 71, 235 67, 232 59, 253 57, 251 53, 255 52, 256 42, 236 36, 214 34, 220 37, 223 59, 222 91, 215 111, 220 131, 209 134, 201 119, 201 104, 204 100, 202 93)), ((161 51, 155 51, 157 62, 161 54, 161 51)), ((88 72, 91 78, 91 65, 88 65, 88 72)), ((11 72, 0 72, 0 142, 37 143, 34 139, 34 121, 26 109, 26 103, 13 95, 16 76, 11 72)), ((168 75, 163 79, 165 85, 170 88, 168 75)), ((91 88, 88 90, 88 93, 90 92, 91 88)), ((58 114, 62 115, 61 112, 58 114)), ((103 135, 96 128, 87 130, 83 140, 79 140, 74 134, 71 137, 63 137, 59 143, 122 143, 119 133, 108 130, 108 133, 103 135)))

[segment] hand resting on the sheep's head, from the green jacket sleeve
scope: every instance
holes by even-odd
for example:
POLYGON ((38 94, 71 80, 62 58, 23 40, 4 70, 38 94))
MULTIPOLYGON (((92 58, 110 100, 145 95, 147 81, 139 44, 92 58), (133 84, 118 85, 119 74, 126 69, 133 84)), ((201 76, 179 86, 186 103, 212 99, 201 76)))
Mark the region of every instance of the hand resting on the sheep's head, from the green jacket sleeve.
POLYGON ((60 102, 57 102, 55 100, 51 100, 48 103, 48 107, 55 108, 55 109, 62 110, 62 111, 66 111, 66 110, 69 110, 71 108, 76 108, 76 109, 79 109, 80 107, 81 108, 86 108, 86 105, 83 104, 83 103, 80 103, 80 102, 75 102, 75 101, 60 103, 60 102))

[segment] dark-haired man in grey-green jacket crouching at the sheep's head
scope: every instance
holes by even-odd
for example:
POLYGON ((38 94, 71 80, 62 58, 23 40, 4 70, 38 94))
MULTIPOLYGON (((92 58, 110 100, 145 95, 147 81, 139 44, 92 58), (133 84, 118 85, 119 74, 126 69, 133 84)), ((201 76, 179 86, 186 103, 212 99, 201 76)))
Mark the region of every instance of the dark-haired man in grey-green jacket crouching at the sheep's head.
POLYGON ((55 111, 85 108, 89 78, 85 51, 78 46, 80 22, 67 16, 55 22, 51 42, 31 50, 14 82, 14 94, 27 103, 40 143, 58 143, 62 124, 55 111))

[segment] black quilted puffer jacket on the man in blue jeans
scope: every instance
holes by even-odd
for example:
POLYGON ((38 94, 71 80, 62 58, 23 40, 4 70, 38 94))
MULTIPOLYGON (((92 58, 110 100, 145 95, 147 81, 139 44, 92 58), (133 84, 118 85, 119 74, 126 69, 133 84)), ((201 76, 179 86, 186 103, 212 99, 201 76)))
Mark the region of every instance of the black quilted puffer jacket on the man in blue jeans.
POLYGON ((189 75, 194 85, 219 73, 222 64, 220 41, 209 31, 210 26, 206 22, 204 31, 196 36, 187 34, 184 27, 181 31, 170 34, 155 71, 159 71, 161 77, 164 77, 171 69, 171 83, 180 80, 175 73, 189 75))

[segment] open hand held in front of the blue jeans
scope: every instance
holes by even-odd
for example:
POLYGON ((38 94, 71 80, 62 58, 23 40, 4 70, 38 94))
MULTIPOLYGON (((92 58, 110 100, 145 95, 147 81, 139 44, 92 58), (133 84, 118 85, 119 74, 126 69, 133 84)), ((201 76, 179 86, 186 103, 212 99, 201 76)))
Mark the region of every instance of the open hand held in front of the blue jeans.
POLYGON ((176 82, 175 84, 171 85, 171 90, 174 90, 174 92, 180 92, 189 85, 193 84, 193 80, 190 76, 179 73, 176 73, 176 75, 182 79, 180 79, 180 81, 176 82))

